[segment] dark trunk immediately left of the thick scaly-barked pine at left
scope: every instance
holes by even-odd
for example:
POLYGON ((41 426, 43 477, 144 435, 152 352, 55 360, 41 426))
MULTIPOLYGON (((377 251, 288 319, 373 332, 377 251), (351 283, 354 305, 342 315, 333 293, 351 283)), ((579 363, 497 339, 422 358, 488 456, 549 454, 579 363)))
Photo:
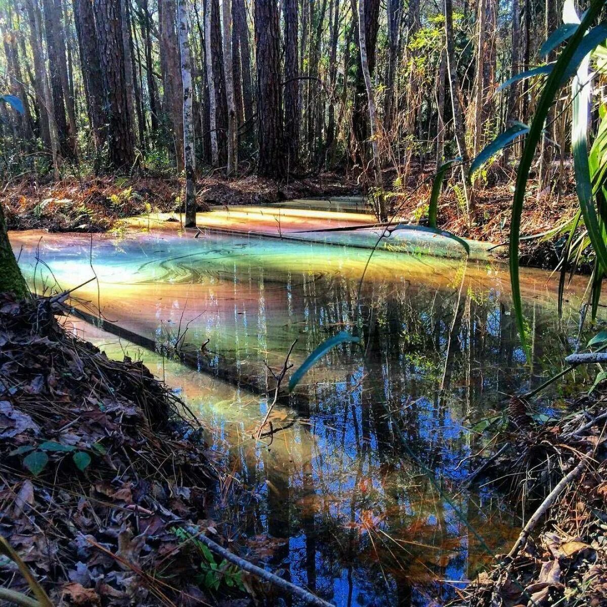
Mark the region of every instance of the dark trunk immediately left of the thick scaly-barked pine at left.
POLYGON ((93 143, 100 151, 106 135, 106 112, 93 5, 89 0, 73 0, 73 9, 93 143))

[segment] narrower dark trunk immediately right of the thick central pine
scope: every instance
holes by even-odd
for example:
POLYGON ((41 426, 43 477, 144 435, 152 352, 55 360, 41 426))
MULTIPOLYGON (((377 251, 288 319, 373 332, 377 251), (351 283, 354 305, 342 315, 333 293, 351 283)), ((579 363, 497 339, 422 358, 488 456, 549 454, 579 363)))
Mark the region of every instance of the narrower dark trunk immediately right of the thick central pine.
POLYGON ((285 153, 291 171, 299 162, 299 52, 297 0, 285 0, 285 153))

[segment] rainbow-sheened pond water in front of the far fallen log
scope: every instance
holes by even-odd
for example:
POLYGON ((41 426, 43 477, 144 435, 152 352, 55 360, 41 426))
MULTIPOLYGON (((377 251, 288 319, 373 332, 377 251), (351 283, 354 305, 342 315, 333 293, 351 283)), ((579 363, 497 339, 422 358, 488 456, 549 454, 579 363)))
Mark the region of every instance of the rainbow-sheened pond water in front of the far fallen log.
POLYGON ((561 368, 585 279, 559 322, 555 280, 521 272, 526 365, 501 263, 387 250, 368 261, 363 248, 156 225, 10 238, 38 293, 97 277, 76 307, 100 310, 114 335, 70 319, 74 330, 109 356, 142 358, 200 416, 230 473, 210 512, 227 521, 222 534, 245 535, 251 558, 348 606, 430 605, 506 550, 520 520, 482 483, 462 489, 466 458, 495 434, 485 420, 507 395, 561 368), (362 343, 319 361, 257 443, 275 385, 266 363, 279 370, 297 340, 296 368, 341 330, 362 343), (177 344, 203 372, 116 334, 177 344))

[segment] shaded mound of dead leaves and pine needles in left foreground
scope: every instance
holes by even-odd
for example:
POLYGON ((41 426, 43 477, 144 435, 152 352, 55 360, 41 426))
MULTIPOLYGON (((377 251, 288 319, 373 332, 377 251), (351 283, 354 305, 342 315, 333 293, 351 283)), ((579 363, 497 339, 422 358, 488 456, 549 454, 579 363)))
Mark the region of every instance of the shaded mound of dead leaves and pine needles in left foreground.
MULTIPOLYGON (((0 534, 55 605, 214 604, 174 527, 205 518, 217 480, 199 429, 142 364, 70 337, 55 305, 0 295, 0 534)), ((27 592, 2 557, 0 586, 27 592)))

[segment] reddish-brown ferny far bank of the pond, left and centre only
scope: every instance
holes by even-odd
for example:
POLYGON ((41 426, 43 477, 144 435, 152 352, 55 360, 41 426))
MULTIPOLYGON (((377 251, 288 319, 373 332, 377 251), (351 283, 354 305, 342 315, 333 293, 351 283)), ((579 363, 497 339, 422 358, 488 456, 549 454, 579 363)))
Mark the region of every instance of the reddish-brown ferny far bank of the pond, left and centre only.
MULTIPOLYGON (((158 177, 83 177, 39 182, 13 181, 0 194, 8 229, 51 232, 106 232, 121 219, 144 212, 177 211, 183 180, 158 177)), ((261 205, 281 200, 358 191, 356 183, 334 174, 278 183, 259 177, 205 177, 198 182, 198 209, 214 205, 261 205)))

